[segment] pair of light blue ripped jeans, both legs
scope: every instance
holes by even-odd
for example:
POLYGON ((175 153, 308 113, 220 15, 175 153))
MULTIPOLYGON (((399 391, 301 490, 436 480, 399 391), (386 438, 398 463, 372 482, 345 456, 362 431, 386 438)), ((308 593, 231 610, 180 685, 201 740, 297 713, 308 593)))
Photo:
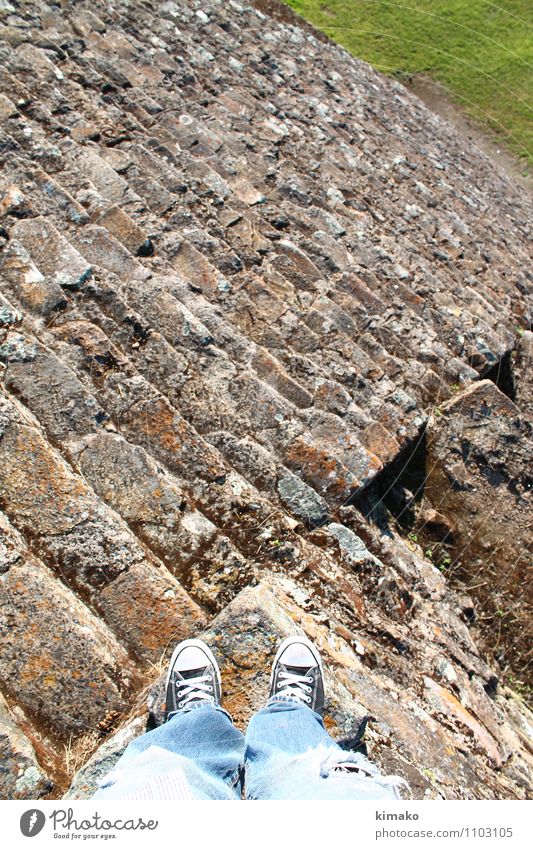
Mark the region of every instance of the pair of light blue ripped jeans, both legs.
POLYGON ((220 707, 180 711, 133 740, 93 798, 240 799, 243 768, 247 799, 398 799, 404 783, 341 749, 306 705, 274 697, 246 736, 220 707))

